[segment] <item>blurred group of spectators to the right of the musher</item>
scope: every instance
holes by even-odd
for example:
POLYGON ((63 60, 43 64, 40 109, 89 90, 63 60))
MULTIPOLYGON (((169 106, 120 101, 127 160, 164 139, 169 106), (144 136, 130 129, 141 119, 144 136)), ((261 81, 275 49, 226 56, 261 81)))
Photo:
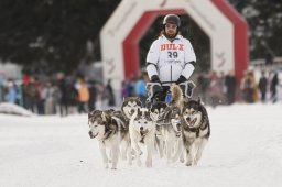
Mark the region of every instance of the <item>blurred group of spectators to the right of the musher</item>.
POLYGON ((198 95, 213 107, 234 102, 274 103, 282 95, 281 87, 278 72, 269 68, 246 70, 239 82, 232 72, 227 75, 210 72, 197 77, 198 95))

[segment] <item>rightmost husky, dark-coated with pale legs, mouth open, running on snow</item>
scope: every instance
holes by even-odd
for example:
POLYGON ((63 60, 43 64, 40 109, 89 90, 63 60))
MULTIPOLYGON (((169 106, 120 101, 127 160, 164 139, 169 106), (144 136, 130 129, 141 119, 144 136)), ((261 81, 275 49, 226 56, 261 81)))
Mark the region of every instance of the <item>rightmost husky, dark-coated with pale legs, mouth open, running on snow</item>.
POLYGON ((185 100, 182 108, 186 165, 197 165, 210 135, 206 108, 198 100, 185 100))

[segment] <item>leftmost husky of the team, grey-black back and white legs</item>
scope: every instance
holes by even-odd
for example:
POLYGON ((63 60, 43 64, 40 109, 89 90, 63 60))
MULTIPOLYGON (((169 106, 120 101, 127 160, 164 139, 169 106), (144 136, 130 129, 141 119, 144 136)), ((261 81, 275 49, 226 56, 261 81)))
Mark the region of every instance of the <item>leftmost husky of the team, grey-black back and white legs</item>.
POLYGON ((95 110, 88 113, 88 125, 90 139, 97 139, 106 168, 111 162, 112 169, 117 168, 121 148, 122 157, 128 156, 131 165, 129 124, 121 111, 95 110))

